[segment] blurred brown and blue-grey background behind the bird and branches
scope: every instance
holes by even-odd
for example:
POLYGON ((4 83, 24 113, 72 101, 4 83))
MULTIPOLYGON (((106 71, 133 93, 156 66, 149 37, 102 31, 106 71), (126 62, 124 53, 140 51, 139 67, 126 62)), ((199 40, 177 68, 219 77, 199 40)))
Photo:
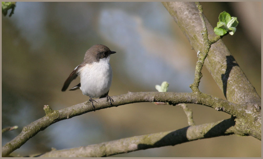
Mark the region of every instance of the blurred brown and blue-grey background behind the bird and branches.
MULTIPOLYGON (((201 2, 213 27, 226 11, 237 17, 236 33, 223 38, 261 96, 261 2, 201 2)), ((10 11, 9 11, 10 12, 10 11)), ((9 14, 8 12, 8 14, 9 14)), ((110 96, 128 91, 191 92, 196 52, 160 2, 17 2, 12 17, 2 15, 2 145, 23 126, 43 117, 44 105, 58 110, 87 101, 80 90, 62 92, 73 69, 94 44, 108 46, 113 82, 110 96)), ((225 99, 206 68, 200 90, 225 99)), ((79 78, 71 86, 79 83, 79 78)), ((188 104, 196 125, 230 118, 188 104)), ((128 104, 57 122, 11 155, 26 156, 91 145, 188 126, 178 106, 128 104)), ((140 150, 113 157, 260 157, 261 141, 235 135, 140 150)))

